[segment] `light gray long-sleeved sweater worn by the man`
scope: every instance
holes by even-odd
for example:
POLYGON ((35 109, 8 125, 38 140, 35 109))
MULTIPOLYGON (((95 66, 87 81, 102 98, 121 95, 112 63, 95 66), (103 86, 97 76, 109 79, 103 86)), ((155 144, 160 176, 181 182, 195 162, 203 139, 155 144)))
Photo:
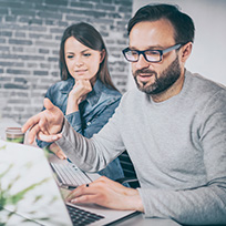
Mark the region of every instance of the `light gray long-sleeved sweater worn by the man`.
POLYGON ((146 217, 226 224, 226 89, 186 71, 179 94, 155 103, 137 89, 123 95, 91 140, 65 121, 58 144, 95 172, 127 150, 146 217))

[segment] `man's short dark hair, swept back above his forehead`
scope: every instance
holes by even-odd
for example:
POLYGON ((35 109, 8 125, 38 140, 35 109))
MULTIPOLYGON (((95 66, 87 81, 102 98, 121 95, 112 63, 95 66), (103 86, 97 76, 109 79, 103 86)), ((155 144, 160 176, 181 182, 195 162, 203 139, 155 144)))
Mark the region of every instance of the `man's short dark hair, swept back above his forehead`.
POLYGON ((195 25, 192 18, 178 10, 177 6, 172 4, 147 4, 142 7, 135 16, 129 21, 127 32, 143 21, 157 21, 161 19, 168 20, 174 27, 175 43, 194 42, 195 25))

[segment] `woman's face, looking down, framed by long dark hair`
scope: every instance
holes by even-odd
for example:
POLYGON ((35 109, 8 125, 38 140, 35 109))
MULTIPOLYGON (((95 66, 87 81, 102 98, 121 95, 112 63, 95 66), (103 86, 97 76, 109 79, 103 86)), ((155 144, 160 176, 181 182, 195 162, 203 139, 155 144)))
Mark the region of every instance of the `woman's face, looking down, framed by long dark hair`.
POLYGON ((69 73, 75 80, 92 80, 94 82, 104 54, 104 51, 85 47, 74 37, 70 37, 64 43, 65 63, 69 73))

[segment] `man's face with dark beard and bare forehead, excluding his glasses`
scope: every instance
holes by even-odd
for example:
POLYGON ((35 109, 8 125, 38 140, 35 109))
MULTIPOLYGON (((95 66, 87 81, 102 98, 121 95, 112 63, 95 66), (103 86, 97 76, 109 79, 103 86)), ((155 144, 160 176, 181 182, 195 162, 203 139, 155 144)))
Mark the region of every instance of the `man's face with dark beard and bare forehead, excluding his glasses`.
MULTIPOLYGON (((136 23, 130 33, 132 50, 164 50, 175 44, 174 29, 167 20, 136 23)), ((157 63, 147 62, 141 54, 138 61, 132 63, 132 71, 137 88, 151 95, 166 91, 182 73, 176 50, 164 53, 157 63)))

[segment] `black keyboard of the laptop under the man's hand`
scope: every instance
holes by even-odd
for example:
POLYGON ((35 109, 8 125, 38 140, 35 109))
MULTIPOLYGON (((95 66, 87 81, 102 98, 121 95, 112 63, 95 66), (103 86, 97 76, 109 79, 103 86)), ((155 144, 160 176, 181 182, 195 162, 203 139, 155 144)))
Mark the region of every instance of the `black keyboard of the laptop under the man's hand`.
POLYGON ((81 208, 72 207, 66 205, 69 214, 71 216, 71 220, 73 225, 82 226, 82 225, 90 225, 96 220, 104 218, 104 216, 93 214, 91 212, 83 210, 81 208))

